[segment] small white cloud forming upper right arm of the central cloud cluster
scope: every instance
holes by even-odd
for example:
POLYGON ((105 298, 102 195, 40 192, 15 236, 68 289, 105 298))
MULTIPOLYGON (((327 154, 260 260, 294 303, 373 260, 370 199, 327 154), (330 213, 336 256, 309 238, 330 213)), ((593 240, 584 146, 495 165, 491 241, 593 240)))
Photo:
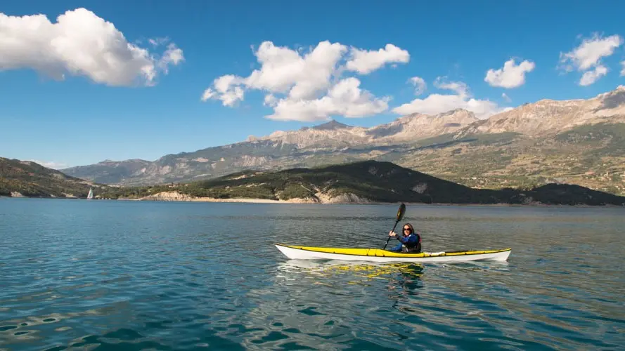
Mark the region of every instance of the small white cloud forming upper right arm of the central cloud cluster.
POLYGON ((352 59, 347 61, 345 67, 360 74, 369 74, 387 63, 408 63, 410 61, 408 51, 393 44, 386 44, 385 48, 380 48, 378 51, 352 48, 351 55, 352 59))

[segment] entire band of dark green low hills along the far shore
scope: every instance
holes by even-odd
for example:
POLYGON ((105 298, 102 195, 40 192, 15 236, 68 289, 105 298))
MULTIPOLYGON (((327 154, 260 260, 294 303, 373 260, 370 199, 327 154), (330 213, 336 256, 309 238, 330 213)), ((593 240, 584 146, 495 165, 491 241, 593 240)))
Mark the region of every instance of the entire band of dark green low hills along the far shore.
POLYGON ((0 158, 0 196, 286 204, 625 206, 625 197, 579 185, 475 189, 387 161, 283 171, 242 171, 211 180, 120 187, 66 176, 28 161, 0 158))

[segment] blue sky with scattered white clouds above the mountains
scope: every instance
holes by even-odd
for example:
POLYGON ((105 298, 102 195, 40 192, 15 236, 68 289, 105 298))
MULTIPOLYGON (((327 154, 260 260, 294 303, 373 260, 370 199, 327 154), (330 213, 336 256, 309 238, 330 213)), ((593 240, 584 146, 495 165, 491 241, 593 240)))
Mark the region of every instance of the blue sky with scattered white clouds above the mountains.
POLYGON ((625 2, 5 1, 0 157, 147 159, 625 85, 625 2))

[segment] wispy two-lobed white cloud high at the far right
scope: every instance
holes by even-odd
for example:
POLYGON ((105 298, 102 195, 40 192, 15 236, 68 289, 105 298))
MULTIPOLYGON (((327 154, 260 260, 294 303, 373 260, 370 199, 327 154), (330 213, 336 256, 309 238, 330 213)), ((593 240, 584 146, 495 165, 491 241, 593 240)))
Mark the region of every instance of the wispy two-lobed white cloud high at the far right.
POLYGON ((599 34, 593 34, 593 37, 584 39, 572 51, 561 52, 558 69, 562 69, 564 72, 572 72, 577 69, 579 72, 584 72, 579 80, 579 85, 593 84, 608 72, 601 59, 612 55, 621 44, 623 44, 623 38, 617 34, 605 38, 600 37, 599 34))

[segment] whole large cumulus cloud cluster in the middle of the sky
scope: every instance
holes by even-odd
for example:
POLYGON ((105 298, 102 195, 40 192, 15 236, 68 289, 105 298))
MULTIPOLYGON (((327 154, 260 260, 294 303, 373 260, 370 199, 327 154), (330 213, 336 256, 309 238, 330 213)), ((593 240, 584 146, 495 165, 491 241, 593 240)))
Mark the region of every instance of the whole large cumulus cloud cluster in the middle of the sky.
POLYGON ((389 98, 376 98, 363 90, 360 79, 342 77, 347 72, 369 74, 390 62, 408 62, 408 52, 387 44, 366 51, 340 43, 321 41, 308 51, 276 46, 264 41, 254 50, 260 64, 249 76, 233 74, 214 79, 201 100, 220 100, 233 107, 250 90, 266 93, 263 105, 273 108, 268 119, 281 121, 327 120, 332 115, 366 117, 388 109, 389 98))

